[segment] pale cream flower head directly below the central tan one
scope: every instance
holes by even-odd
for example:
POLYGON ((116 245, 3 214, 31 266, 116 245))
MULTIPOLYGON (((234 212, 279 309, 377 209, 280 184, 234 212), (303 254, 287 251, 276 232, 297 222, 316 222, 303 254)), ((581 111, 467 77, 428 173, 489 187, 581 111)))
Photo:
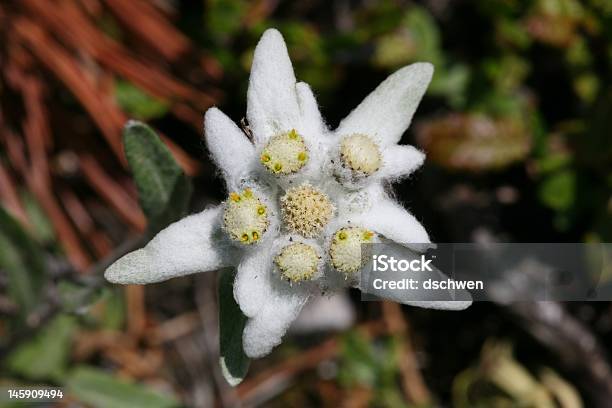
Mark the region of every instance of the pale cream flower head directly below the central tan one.
POLYGON ((314 278, 321 257, 310 245, 295 243, 284 247, 274 258, 283 279, 291 283, 314 278))

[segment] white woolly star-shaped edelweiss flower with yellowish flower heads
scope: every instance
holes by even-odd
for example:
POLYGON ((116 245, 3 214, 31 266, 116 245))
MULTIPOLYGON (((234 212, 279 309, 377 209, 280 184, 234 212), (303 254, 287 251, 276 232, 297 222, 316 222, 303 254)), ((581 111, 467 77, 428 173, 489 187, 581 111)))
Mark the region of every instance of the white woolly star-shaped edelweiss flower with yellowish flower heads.
POLYGON ((170 225, 115 262, 106 278, 142 284, 234 266, 234 297, 249 318, 244 350, 266 355, 312 294, 360 285, 362 243, 393 240, 421 249, 430 242, 383 182, 423 162, 421 152, 397 142, 432 72, 430 64, 397 71, 330 132, 308 85, 296 82, 282 36, 266 31, 247 95, 252 140, 217 108, 205 116, 206 143, 228 199, 170 225))

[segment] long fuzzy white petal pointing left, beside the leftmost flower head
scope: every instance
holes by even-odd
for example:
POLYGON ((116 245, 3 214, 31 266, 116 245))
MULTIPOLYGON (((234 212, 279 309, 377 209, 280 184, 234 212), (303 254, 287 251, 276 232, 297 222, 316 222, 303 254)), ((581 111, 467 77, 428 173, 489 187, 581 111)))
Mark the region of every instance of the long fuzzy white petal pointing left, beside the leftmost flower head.
POLYGON ((220 214, 221 207, 215 207, 175 222, 144 248, 117 260, 104 277, 112 283, 145 284, 228 266, 229 254, 217 236, 220 214))

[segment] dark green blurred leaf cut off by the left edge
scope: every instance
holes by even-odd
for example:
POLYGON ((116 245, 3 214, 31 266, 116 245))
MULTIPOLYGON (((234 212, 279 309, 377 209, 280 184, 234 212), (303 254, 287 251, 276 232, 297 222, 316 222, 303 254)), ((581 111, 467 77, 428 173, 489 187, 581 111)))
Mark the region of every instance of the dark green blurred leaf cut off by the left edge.
POLYGON ((42 291, 45 275, 44 253, 4 208, 0 207, 0 269, 8 276, 8 294, 22 315, 31 312, 42 291))

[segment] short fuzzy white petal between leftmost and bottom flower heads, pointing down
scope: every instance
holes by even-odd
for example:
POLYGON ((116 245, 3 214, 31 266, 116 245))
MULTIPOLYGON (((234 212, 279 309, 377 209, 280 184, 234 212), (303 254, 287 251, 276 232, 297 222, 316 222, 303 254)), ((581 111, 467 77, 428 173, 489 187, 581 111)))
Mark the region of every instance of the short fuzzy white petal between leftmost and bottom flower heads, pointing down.
POLYGON ((254 317, 265 299, 272 293, 270 273, 272 254, 269 247, 258 248, 246 254, 237 267, 234 281, 234 299, 247 317, 254 317))

